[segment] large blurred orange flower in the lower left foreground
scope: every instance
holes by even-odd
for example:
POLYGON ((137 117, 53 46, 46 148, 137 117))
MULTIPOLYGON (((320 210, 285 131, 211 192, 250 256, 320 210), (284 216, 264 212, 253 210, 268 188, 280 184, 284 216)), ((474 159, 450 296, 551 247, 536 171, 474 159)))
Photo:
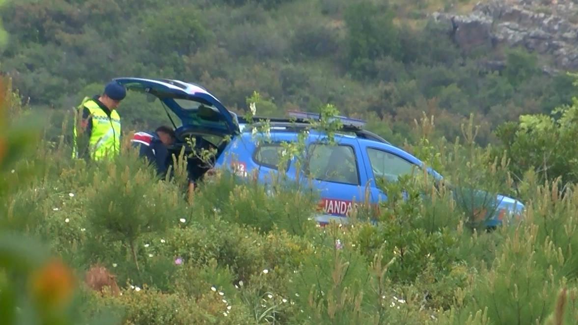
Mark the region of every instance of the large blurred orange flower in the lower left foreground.
POLYGON ((30 280, 32 296, 49 308, 68 303, 75 289, 72 270, 57 259, 36 270, 30 280))

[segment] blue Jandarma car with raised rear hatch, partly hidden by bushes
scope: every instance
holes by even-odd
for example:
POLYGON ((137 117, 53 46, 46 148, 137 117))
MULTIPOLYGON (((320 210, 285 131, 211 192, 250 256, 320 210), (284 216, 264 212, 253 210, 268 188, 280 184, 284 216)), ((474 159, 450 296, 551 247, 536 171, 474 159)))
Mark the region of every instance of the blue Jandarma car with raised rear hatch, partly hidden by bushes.
MULTIPOLYGON (((140 91, 151 99, 160 99, 165 109, 178 117, 177 146, 186 146, 185 139, 195 138, 195 148, 213 149, 217 154, 211 164, 191 157, 188 166, 192 180, 201 178, 211 168, 227 168, 243 177, 253 176, 259 182, 271 182, 279 173, 279 159, 283 154, 281 143, 298 141, 298 134, 307 121, 318 115, 290 112, 291 119, 269 119, 267 141, 255 141, 254 121, 246 121, 229 111, 214 95, 194 83, 169 79, 142 79, 125 77, 115 79, 129 91, 140 91), (247 124, 251 128, 247 128, 247 124)), ((168 114, 168 111, 167 111, 168 114)), ((169 115, 170 118, 170 115, 169 115)), ((387 200, 377 186, 376 179, 397 180, 398 176, 425 168, 422 161, 380 136, 364 130, 362 120, 338 117, 343 128, 335 135, 335 143, 327 143, 327 135, 310 130, 306 137, 307 170, 297 170, 295 157, 282 171, 289 179, 308 177, 320 197, 317 222, 330 220, 347 222, 347 215, 355 202, 368 200, 376 205, 387 200), (310 150, 310 152, 309 152, 310 150)), ((442 179, 431 168, 429 175, 442 179)), ((524 205, 514 198, 497 195, 494 209, 486 226, 495 227, 503 220, 520 217, 524 205)))

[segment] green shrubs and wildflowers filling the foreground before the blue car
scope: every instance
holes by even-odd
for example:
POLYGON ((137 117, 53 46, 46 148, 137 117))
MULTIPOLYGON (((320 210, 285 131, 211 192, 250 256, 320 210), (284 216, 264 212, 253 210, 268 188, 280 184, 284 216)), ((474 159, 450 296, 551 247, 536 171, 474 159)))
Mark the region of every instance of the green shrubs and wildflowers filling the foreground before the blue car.
POLYGON ((71 160, 64 141, 35 131, 41 125, 9 83, 1 94, 6 324, 578 321, 575 184, 562 190, 533 172, 514 179, 509 153, 476 145, 473 121, 450 143, 424 117, 406 147, 451 184, 517 193, 523 220, 483 231, 446 187, 417 175, 384 184, 391 200, 377 224, 359 209, 351 224, 321 228, 314 198, 294 189, 265 191, 222 173, 190 204, 178 182, 159 181, 130 150, 113 162, 71 160), (81 281, 97 264, 116 276, 120 295, 81 281))

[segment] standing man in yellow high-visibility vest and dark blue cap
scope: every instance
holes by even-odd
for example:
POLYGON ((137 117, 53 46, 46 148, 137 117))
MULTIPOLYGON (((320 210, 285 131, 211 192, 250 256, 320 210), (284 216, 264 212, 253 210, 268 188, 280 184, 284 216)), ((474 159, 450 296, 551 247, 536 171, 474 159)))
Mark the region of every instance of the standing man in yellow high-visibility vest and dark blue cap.
POLYGON ((116 108, 126 95, 124 86, 113 81, 101 95, 85 97, 77 106, 73 158, 102 160, 120 152, 120 116, 116 108))

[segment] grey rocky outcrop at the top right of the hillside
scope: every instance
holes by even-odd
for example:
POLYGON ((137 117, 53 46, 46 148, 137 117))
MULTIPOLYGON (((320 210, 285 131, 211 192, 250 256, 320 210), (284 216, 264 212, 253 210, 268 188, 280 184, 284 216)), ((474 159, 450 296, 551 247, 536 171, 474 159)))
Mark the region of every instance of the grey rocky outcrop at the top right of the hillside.
POLYGON ((433 13, 465 51, 480 45, 524 46, 578 70, 578 0, 490 0, 466 15, 433 13))

